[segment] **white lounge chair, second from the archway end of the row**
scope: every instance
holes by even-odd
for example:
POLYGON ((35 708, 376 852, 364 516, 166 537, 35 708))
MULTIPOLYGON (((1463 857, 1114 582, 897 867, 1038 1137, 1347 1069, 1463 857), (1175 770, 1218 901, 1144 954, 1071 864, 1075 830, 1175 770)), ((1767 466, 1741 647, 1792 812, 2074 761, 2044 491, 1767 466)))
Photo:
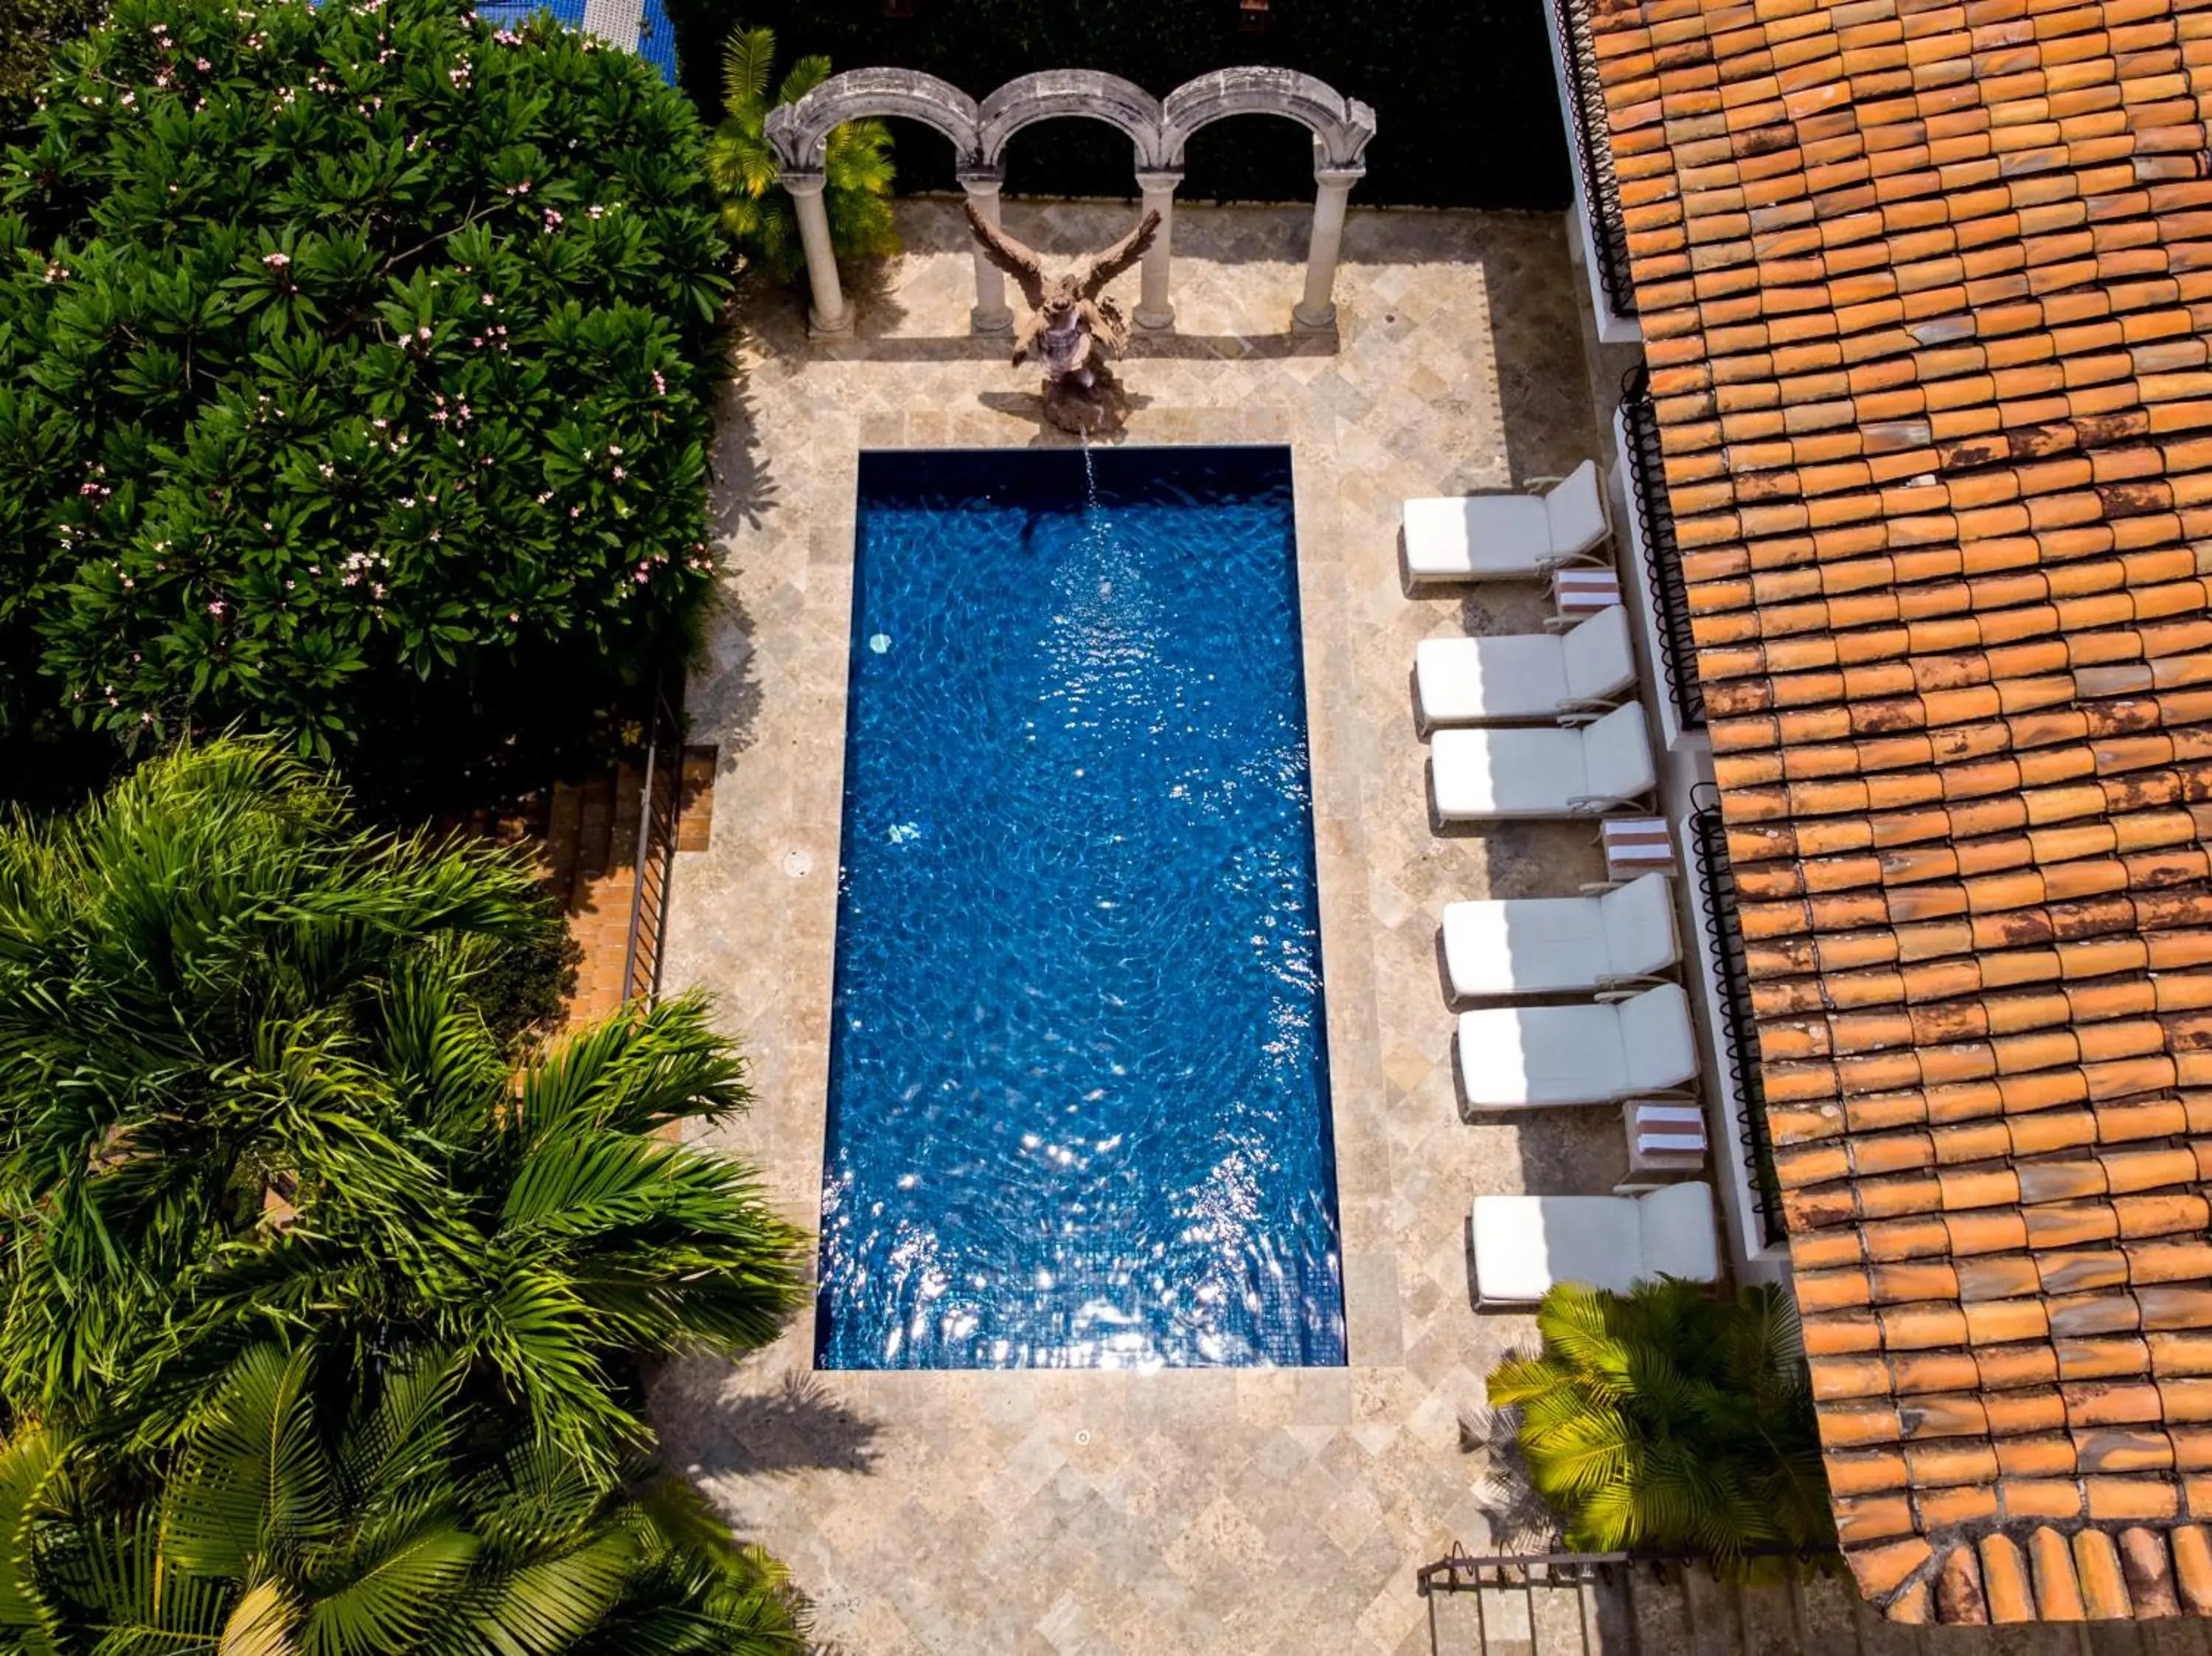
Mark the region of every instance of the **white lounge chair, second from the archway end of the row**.
POLYGON ((1425 730, 1557 719, 1577 708, 1601 708, 1635 688, 1635 681, 1628 610, 1619 604, 1568 632, 1422 639, 1413 648, 1413 688, 1425 730))

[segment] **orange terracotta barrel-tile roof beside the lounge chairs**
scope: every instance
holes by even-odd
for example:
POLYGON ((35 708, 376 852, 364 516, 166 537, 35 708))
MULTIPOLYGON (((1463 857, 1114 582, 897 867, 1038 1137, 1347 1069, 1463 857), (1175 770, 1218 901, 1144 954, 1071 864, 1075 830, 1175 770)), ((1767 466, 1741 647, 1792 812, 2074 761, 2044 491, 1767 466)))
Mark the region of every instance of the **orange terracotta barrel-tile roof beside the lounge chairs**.
POLYGON ((1595 7, 1845 1548, 2212 1612, 2212 9, 1595 7))

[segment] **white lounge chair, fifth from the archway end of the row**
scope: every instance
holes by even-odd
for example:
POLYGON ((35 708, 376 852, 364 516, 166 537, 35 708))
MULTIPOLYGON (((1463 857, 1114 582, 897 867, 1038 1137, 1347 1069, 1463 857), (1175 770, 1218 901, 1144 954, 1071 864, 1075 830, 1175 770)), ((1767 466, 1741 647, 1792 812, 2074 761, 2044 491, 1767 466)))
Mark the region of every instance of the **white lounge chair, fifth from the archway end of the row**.
POLYGON ((1582 1006, 1460 1013, 1460 1086, 1471 1110, 1615 1103, 1697 1079, 1681 984, 1582 1006))

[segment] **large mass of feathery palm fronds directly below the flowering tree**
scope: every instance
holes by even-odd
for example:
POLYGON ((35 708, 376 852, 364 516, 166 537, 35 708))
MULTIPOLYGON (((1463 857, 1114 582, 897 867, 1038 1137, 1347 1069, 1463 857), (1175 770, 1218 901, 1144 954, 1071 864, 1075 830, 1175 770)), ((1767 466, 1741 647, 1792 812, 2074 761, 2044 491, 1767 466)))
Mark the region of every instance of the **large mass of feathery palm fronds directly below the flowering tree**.
POLYGON ((248 1346, 469 1364, 611 1468, 641 1360, 739 1353, 801 1236, 666 1130, 743 1108, 699 1002, 522 1068, 473 997, 542 926, 480 845, 367 836, 268 743, 0 827, 0 1402, 173 1435, 248 1346))

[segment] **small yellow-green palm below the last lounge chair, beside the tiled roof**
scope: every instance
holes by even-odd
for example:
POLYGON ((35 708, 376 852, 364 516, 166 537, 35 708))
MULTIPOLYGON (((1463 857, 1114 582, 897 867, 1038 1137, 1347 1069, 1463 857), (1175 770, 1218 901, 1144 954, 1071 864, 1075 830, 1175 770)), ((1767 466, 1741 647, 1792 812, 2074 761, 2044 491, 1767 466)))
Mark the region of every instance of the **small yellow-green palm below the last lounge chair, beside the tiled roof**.
POLYGON ((1562 1282, 1537 1331, 1542 1355, 1491 1371, 1491 1406, 1520 1411, 1531 1481, 1571 1548, 1743 1565, 1754 1548, 1834 1545, 1785 1289, 1730 1302, 1674 1278, 1624 1296, 1562 1282))

